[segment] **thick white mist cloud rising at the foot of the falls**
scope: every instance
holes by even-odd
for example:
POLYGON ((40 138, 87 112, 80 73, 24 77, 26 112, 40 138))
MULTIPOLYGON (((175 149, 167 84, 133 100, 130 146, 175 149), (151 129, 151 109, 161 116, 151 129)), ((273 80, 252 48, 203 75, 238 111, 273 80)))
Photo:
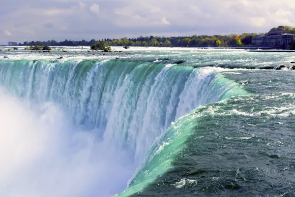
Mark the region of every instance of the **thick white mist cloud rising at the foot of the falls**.
POLYGON ((33 109, 0 88, 0 196, 108 197, 135 166, 127 153, 81 131, 54 103, 33 109))

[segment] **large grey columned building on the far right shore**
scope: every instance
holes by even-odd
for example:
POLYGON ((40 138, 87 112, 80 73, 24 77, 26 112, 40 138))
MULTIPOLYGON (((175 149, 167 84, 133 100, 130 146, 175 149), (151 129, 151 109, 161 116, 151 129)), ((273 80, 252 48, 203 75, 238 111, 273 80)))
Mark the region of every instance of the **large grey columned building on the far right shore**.
POLYGON ((272 47, 272 49, 288 49, 295 34, 289 31, 270 31, 266 35, 252 37, 254 47, 272 47))

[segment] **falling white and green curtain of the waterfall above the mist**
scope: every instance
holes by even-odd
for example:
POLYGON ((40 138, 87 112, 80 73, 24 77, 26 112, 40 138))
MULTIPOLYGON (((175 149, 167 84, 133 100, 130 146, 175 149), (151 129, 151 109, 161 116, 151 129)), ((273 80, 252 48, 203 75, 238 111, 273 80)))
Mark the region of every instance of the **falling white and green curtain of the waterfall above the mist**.
POLYGON ((155 154, 148 153, 155 139, 178 118, 241 94, 218 71, 145 61, 0 61, 0 85, 33 109, 59 106, 75 128, 124 151, 134 166, 146 157, 139 171, 155 154))

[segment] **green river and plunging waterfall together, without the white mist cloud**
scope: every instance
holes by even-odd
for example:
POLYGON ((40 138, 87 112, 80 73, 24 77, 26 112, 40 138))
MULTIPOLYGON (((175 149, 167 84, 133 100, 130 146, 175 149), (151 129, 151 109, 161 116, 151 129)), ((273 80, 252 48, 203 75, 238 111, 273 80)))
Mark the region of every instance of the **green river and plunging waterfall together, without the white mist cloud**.
POLYGON ((295 72, 258 69, 290 65, 293 54, 11 54, 0 61, 1 88, 33 111, 53 103, 104 154, 124 156, 124 178, 106 167, 108 187, 78 196, 295 196, 295 72))

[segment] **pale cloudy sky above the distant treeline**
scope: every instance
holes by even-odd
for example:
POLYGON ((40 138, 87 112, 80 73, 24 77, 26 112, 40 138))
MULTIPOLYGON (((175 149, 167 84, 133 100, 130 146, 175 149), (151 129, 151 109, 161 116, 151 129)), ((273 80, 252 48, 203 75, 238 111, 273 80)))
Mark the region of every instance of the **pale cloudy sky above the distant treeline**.
POLYGON ((1 0, 0 44, 268 32, 295 27, 294 0, 1 0))

